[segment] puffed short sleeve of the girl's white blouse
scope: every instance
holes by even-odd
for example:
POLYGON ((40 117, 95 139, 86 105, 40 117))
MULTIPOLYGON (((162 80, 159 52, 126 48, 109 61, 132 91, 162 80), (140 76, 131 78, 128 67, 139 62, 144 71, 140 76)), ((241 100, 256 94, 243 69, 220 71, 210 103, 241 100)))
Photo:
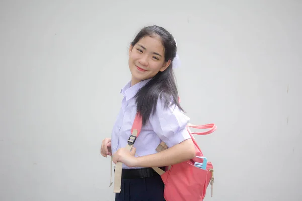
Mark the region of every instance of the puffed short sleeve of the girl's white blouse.
POLYGON ((154 115, 150 117, 150 124, 159 138, 172 147, 191 138, 186 128, 190 118, 187 117, 175 104, 164 108, 159 98, 154 115))

